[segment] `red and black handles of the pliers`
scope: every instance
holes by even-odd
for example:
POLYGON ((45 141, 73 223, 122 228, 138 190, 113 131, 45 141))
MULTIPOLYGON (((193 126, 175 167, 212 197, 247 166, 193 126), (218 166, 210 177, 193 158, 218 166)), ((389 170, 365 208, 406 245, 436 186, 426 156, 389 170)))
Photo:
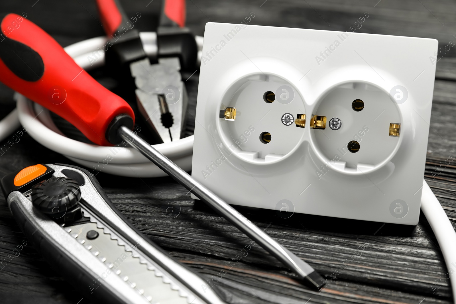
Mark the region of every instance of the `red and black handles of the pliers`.
MULTIPOLYGON (((146 54, 135 22, 141 17, 137 12, 130 18, 119 0, 96 0, 98 12, 110 45, 106 51, 106 64, 113 72, 129 74, 131 62, 149 57, 156 63, 157 57, 178 57, 181 69, 194 72, 197 60, 195 37, 185 25, 185 0, 164 0, 161 10, 161 27, 157 31, 155 56, 146 54)), ((120 75, 119 75, 120 77, 120 75)))

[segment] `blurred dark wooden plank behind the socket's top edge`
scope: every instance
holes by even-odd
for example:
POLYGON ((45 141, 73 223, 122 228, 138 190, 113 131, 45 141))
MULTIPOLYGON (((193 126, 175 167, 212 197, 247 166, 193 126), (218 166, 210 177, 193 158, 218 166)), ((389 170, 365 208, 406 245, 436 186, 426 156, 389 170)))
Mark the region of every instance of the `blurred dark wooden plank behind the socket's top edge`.
POLYGON ((452 31, 456 26, 453 15, 456 3, 451 0, 421 0, 421 3, 412 0, 268 0, 261 5, 263 1, 211 3, 196 0, 187 5, 187 23, 202 35, 207 22, 239 23, 253 11, 255 17, 251 23, 255 25, 348 31, 367 11, 369 17, 359 32, 433 38, 439 41, 440 46, 446 46, 450 40, 456 42, 452 31))

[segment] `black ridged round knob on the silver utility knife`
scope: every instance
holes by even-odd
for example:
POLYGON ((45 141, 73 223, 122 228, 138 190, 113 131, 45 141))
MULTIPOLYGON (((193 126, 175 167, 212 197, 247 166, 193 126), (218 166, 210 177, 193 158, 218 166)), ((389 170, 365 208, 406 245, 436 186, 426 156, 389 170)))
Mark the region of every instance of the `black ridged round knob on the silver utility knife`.
POLYGON ((33 186, 31 201, 43 213, 60 214, 75 206, 81 199, 76 180, 67 177, 51 177, 33 186))

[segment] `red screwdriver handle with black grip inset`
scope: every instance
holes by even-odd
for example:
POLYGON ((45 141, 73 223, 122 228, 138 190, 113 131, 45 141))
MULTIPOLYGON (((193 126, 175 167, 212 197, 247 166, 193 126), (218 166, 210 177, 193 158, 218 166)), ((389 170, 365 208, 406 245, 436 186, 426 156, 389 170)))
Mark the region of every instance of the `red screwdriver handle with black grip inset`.
POLYGON ((5 85, 66 119, 95 144, 114 144, 113 126, 133 127, 130 105, 79 67, 39 26, 8 14, 0 28, 5 85))

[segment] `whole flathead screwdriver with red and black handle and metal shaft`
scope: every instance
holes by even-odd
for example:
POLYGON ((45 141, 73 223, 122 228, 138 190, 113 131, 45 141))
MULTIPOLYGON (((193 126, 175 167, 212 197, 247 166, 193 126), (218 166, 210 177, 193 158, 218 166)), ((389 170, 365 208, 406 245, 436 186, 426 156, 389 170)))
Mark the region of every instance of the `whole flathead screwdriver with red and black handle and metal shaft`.
POLYGON ((135 134, 135 115, 128 103, 79 67, 40 27, 19 15, 8 14, 0 28, 1 82, 66 119, 95 144, 112 145, 125 140, 259 243, 304 283, 317 289, 324 286, 324 279, 309 264, 135 134))

